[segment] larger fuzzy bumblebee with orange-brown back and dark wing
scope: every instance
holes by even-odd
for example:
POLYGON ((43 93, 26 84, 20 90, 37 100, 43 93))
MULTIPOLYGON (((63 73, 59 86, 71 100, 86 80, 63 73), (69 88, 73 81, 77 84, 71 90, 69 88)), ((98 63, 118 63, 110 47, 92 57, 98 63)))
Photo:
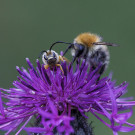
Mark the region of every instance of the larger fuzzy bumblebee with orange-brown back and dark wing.
MULTIPOLYGON (((93 69, 97 68, 101 64, 99 73, 102 74, 109 64, 110 54, 107 46, 117 46, 113 43, 102 42, 102 38, 96 34, 92 33, 82 33, 78 35, 73 43, 66 42, 56 42, 70 44, 68 48, 63 53, 63 56, 71 49, 71 55, 73 60, 71 65, 78 58, 85 59, 86 62, 93 69)), ((54 43, 54 44, 56 44, 54 43)))

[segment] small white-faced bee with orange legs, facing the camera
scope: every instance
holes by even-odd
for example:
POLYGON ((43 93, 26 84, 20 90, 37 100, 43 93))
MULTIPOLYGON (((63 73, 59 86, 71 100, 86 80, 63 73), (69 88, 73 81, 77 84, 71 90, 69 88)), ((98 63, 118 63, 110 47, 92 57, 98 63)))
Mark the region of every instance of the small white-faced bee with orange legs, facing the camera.
POLYGON ((42 61, 45 64, 44 65, 45 69, 48 69, 49 67, 52 69, 55 66, 59 66, 61 71, 64 73, 62 66, 60 65, 60 61, 64 61, 61 55, 58 55, 58 53, 56 53, 51 49, 47 51, 42 51, 40 53, 40 56, 41 55, 42 55, 42 61))

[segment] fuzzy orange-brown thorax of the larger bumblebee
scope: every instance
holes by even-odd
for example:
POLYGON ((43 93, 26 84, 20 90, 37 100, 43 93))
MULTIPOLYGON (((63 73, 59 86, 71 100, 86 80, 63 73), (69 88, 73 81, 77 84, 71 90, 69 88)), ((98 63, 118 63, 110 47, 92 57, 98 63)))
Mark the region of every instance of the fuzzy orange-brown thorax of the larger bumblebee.
POLYGON ((86 45, 87 47, 92 47, 93 46, 92 43, 100 42, 100 41, 101 41, 101 37, 91 33, 82 33, 74 39, 75 43, 83 44, 86 45))

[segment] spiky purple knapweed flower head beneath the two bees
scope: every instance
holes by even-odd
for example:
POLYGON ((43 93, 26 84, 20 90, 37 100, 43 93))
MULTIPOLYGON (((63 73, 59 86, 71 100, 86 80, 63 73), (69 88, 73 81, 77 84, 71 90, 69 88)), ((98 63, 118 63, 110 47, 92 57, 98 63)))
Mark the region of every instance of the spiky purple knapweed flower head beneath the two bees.
POLYGON ((135 125, 128 122, 135 101, 121 98, 128 84, 116 86, 110 76, 99 79, 100 65, 92 70, 83 61, 73 70, 64 62, 61 63, 63 73, 59 67, 45 70, 38 60, 35 69, 29 59, 26 60, 29 68, 17 67, 20 77, 13 82, 14 88, 0 89, 0 129, 7 131, 6 135, 12 131, 18 135, 22 130, 29 134, 53 135, 55 131, 72 134, 73 109, 84 117, 87 117, 85 112, 92 113, 112 129, 114 135, 135 130, 135 125), (39 122, 30 127, 28 123, 34 116, 39 122))

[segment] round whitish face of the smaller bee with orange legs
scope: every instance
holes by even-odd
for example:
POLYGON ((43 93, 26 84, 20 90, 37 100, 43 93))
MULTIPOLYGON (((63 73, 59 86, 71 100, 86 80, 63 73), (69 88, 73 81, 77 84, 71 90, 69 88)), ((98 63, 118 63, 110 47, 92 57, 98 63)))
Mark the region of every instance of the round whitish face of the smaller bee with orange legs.
POLYGON ((45 65, 55 65, 59 62, 59 55, 53 50, 47 50, 42 55, 42 61, 45 65))

